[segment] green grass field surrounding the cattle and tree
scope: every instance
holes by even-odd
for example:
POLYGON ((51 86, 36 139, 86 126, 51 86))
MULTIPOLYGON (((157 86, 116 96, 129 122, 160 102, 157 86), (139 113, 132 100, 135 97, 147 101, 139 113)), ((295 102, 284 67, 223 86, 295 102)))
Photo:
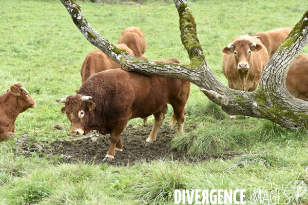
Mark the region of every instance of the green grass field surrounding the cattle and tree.
MULTIPOLYGON (((146 38, 144 55, 149 60, 176 57, 189 63, 173 2, 78 3, 92 28, 111 43, 118 42, 125 28, 137 26, 146 38)), ((207 63, 224 85, 221 50, 235 36, 293 27, 308 8, 306 0, 212 0, 189 1, 188 5, 207 63)), ((55 99, 72 95, 80 87, 82 61, 95 47, 60 1, 2 0, 0 10, 0 93, 20 82, 37 103, 18 116, 15 139, 25 133, 40 144, 71 138, 70 122, 55 99), (64 129, 52 129, 55 125, 64 129)), ((308 54, 308 48, 302 54, 308 54)), ((286 130, 271 121, 244 120, 243 116, 229 122, 195 85, 186 110, 187 126, 196 124, 197 128, 176 135, 171 147, 187 150, 190 157, 209 156, 209 161, 192 164, 162 157, 131 167, 82 160, 66 164, 62 156, 16 156, 12 139, 0 142, 0 204, 174 204, 174 189, 245 189, 246 203, 250 203, 251 190, 264 196, 279 189, 288 190, 279 203, 308 201, 308 194, 300 198, 293 194, 296 180, 308 183, 307 130, 286 130), (227 154, 235 157, 220 157, 227 154)), ((170 116, 169 111, 165 120, 170 116)), ((129 123, 140 124, 140 119, 129 123)))

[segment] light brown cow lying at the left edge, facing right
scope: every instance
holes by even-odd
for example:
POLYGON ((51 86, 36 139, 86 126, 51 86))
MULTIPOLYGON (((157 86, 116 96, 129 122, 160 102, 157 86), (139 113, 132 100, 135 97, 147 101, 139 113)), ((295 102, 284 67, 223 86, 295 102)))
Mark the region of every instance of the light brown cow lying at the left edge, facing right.
POLYGON ((35 106, 35 100, 21 83, 14 84, 0 95, 0 141, 14 136, 18 114, 35 106))

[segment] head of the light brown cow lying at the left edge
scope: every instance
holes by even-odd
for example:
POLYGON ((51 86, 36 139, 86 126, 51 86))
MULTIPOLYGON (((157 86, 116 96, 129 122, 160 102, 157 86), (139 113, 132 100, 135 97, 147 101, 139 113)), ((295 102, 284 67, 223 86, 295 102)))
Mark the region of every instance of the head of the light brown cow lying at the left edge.
POLYGON ((29 108, 34 108, 36 106, 35 100, 29 95, 29 92, 21 83, 12 85, 8 92, 17 98, 16 104, 19 113, 25 112, 29 108))

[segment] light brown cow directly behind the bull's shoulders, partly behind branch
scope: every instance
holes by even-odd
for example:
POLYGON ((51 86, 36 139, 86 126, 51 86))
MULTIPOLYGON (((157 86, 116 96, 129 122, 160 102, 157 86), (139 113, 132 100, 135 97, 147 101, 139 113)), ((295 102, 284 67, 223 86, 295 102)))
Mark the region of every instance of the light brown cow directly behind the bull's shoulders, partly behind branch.
MULTIPOLYGON (((125 44, 116 44, 114 46, 124 49, 130 55, 134 56, 132 50, 130 50, 130 48, 128 48, 125 44)), ((111 60, 103 51, 90 51, 81 66, 81 83, 84 84, 86 79, 88 79, 88 77, 94 75, 95 73, 120 67, 120 64, 115 63, 113 60, 111 60)))

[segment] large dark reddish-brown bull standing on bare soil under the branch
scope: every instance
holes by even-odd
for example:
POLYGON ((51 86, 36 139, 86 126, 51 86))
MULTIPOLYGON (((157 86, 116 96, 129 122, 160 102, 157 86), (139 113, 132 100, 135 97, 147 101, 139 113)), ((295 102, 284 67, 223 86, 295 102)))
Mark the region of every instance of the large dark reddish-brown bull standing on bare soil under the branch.
POLYGON ((190 83, 175 78, 148 77, 122 69, 107 70, 89 77, 76 95, 57 99, 65 103, 61 112, 71 122, 72 136, 98 130, 110 133, 110 148, 104 160, 113 159, 115 150, 122 151, 120 135, 129 119, 154 115, 154 125, 146 146, 151 145, 162 126, 167 104, 174 109, 170 119, 178 122, 178 131, 183 132, 185 104, 190 83))

